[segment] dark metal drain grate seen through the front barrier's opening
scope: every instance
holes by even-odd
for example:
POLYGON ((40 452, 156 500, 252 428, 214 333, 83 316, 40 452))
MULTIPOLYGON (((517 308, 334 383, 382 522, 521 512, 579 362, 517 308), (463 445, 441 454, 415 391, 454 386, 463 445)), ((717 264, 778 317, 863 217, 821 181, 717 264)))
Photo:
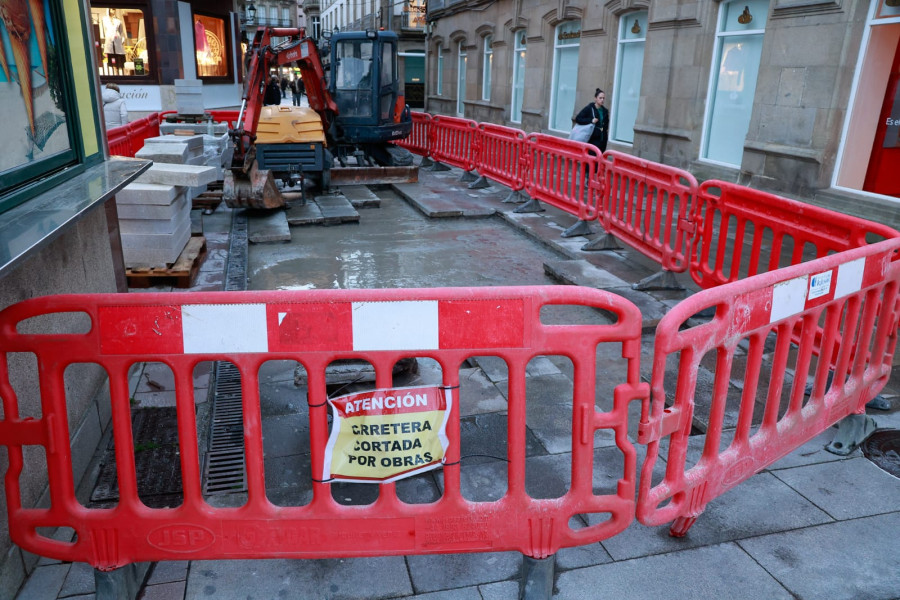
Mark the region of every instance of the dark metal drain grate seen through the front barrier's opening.
POLYGON ((230 362, 216 363, 209 452, 203 470, 203 493, 232 494, 247 490, 244 462, 244 415, 241 373, 230 362))

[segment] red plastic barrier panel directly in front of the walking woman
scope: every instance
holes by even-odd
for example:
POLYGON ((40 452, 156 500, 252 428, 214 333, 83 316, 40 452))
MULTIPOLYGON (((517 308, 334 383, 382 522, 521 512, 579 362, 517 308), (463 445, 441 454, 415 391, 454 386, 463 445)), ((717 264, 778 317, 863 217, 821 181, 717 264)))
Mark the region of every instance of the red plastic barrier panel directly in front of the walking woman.
POLYGON ((600 214, 604 166, 599 150, 589 144, 542 133, 526 138, 525 191, 582 221, 600 214))

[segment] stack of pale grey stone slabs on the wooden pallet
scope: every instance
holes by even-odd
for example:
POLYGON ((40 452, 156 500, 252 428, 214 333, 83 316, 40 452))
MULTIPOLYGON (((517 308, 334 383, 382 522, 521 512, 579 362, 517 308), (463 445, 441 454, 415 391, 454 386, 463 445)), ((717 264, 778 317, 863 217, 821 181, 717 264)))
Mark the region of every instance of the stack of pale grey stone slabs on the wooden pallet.
POLYGON ((116 194, 125 266, 174 263, 191 237, 190 189, 215 181, 206 166, 154 163, 116 194))

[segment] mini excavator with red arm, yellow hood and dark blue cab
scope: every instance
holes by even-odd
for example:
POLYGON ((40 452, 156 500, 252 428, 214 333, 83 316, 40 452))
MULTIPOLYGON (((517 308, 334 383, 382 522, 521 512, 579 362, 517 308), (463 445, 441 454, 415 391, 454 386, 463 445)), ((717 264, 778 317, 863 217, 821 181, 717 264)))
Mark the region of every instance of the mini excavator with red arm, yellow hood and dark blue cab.
POLYGON ((247 50, 241 110, 230 131, 234 157, 223 198, 232 208, 284 206, 276 179, 334 184, 415 181, 412 154, 390 144, 412 131, 400 93, 397 34, 347 31, 322 53, 304 29, 260 27, 247 50), (273 45, 274 38, 285 38, 273 45), (326 60, 323 61, 322 57, 326 60), (299 68, 309 108, 263 106, 270 69, 299 68))

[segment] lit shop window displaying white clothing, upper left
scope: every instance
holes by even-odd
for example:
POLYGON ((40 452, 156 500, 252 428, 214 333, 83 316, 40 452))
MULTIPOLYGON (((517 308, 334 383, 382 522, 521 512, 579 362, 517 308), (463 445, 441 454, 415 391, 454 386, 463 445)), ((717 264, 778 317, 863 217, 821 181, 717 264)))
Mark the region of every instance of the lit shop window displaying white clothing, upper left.
POLYGON ((91 28, 97 68, 109 77, 146 77, 156 65, 148 43, 150 17, 146 9, 129 6, 91 6, 91 28), (146 25, 145 25, 146 24, 146 25))

